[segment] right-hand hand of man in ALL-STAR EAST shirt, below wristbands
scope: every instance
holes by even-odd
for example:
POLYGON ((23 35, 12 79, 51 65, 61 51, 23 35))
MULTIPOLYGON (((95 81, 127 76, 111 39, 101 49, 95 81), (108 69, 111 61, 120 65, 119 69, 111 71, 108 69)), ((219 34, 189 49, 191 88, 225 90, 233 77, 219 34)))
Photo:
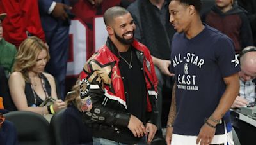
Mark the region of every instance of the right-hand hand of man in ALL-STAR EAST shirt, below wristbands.
POLYGON ((196 144, 200 142, 200 145, 209 145, 212 142, 216 129, 209 127, 205 124, 201 127, 198 137, 196 139, 196 144))

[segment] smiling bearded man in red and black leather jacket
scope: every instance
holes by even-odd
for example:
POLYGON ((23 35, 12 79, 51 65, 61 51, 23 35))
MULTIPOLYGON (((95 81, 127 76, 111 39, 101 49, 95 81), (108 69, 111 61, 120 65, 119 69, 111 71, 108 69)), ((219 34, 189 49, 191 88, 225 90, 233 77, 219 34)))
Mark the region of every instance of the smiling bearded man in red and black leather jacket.
POLYGON ((92 128, 95 144, 150 143, 158 115, 150 52, 134 40, 136 26, 124 8, 109 8, 104 22, 106 45, 92 55, 81 73, 83 121, 92 128))

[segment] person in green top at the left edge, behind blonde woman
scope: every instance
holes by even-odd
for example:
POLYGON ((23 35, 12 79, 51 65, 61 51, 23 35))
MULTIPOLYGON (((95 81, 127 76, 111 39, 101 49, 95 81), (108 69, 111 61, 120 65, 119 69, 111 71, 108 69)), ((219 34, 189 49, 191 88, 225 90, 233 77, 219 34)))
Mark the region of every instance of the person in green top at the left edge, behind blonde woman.
POLYGON ((0 66, 4 67, 5 74, 8 76, 12 71, 17 50, 14 45, 8 43, 3 38, 2 22, 6 17, 6 13, 0 13, 0 66))

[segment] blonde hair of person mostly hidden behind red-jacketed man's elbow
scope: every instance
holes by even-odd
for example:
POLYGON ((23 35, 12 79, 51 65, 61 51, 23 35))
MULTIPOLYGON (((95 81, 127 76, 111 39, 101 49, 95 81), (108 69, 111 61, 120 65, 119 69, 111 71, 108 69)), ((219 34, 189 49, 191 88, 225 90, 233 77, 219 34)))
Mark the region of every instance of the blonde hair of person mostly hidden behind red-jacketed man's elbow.
POLYGON ((81 98, 80 98, 80 86, 79 79, 76 81, 76 85, 72 87, 72 91, 68 92, 65 102, 67 105, 73 104, 77 107, 79 111, 81 111, 81 98))

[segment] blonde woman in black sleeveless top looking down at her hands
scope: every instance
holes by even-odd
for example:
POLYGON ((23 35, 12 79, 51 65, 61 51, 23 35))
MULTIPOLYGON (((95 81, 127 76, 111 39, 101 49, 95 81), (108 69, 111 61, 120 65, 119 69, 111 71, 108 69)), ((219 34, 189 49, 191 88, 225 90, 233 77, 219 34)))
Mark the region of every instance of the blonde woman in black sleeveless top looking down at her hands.
POLYGON ((44 72, 49 59, 47 47, 36 36, 21 43, 13 66, 14 72, 8 81, 12 100, 18 110, 54 114, 66 107, 65 102, 57 100, 54 77, 44 72), (50 98, 56 101, 49 106, 39 107, 50 98))

